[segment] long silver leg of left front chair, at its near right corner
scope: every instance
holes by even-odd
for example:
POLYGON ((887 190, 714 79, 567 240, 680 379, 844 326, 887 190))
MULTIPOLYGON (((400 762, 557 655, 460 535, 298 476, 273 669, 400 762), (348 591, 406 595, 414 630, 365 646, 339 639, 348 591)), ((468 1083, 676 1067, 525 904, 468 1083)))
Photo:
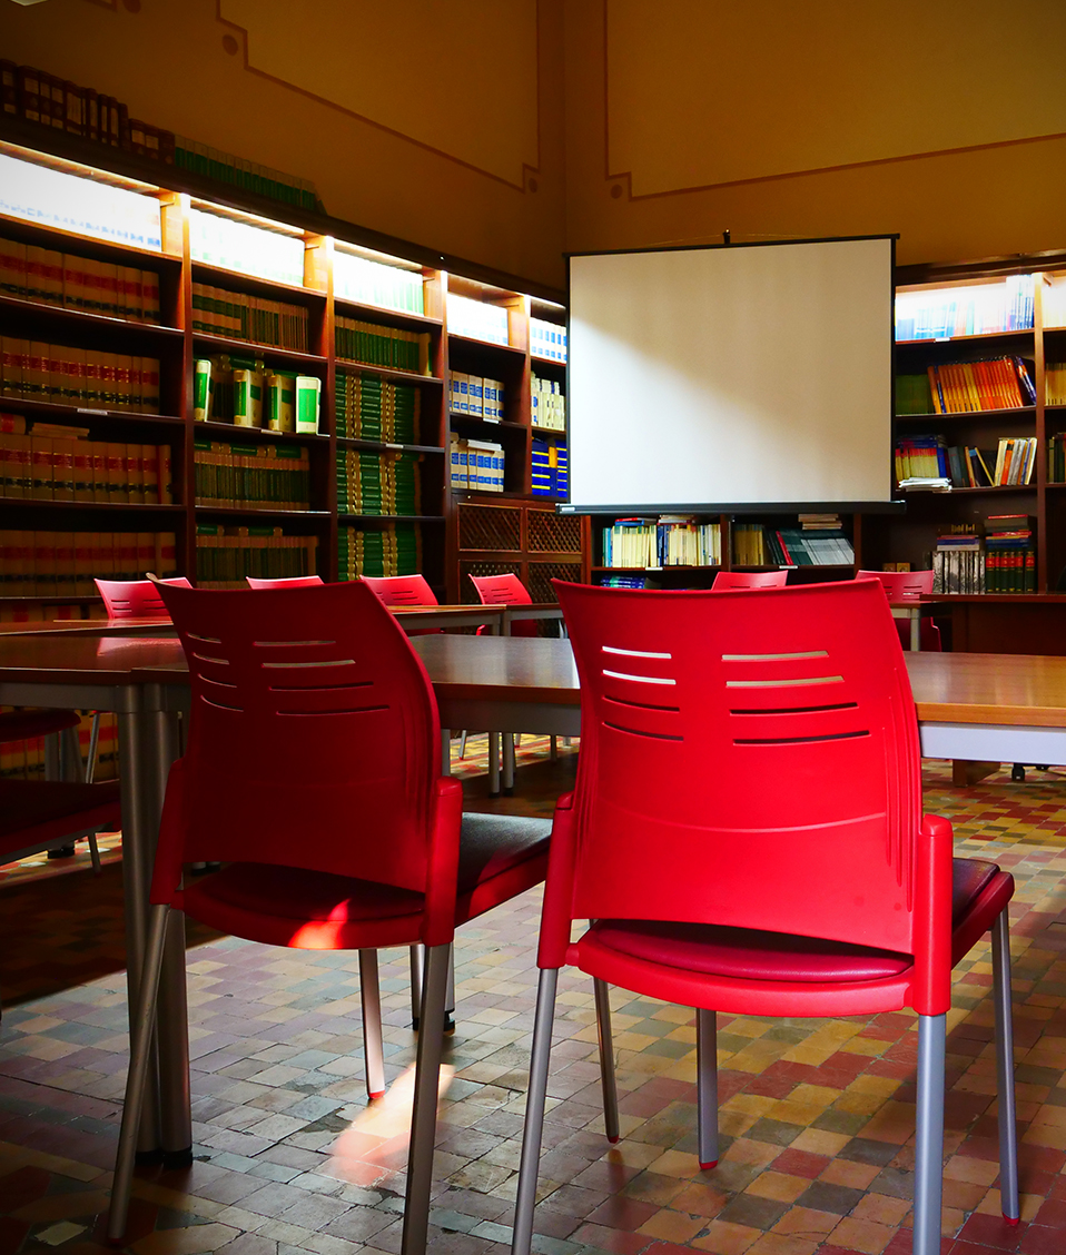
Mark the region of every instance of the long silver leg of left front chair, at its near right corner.
POLYGON ((444 995, 448 986, 446 945, 426 950, 426 989, 414 1069, 414 1106, 411 1113, 411 1150, 407 1156, 407 1199, 403 1207, 402 1255, 426 1255, 429 1230, 429 1190, 433 1182, 433 1142, 437 1135, 437 1094, 444 1037, 444 995))

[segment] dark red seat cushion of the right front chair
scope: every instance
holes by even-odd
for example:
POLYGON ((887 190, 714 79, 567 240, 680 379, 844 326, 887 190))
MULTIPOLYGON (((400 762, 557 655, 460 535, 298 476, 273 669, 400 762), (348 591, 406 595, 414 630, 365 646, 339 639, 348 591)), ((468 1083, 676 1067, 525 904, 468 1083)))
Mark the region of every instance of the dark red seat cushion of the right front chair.
MULTIPOLYGON (((996 863, 984 858, 954 860, 956 924, 998 873, 996 863)), ((735 980, 886 980, 913 963, 910 955, 891 950, 714 924, 599 920, 590 932, 600 945, 634 959, 735 980)))

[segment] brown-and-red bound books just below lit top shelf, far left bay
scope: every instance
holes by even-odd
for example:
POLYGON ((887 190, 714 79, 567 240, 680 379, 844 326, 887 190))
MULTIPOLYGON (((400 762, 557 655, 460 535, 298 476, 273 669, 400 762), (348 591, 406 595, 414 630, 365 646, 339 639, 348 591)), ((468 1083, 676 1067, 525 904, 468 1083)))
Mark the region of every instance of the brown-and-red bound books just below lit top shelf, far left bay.
POLYGON ((0 240, 0 292, 129 323, 159 321, 159 276, 154 270, 114 266, 15 240, 0 240))

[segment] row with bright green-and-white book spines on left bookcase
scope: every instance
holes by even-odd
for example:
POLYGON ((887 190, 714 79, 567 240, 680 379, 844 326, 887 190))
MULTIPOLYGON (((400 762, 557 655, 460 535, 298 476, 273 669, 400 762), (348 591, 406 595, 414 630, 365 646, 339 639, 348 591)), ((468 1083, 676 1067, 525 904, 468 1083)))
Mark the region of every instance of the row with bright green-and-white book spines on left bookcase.
POLYGON ((321 380, 267 366, 262 358, 220 353, 193 364, 192 417, 267 432, 315 434, 321 380))

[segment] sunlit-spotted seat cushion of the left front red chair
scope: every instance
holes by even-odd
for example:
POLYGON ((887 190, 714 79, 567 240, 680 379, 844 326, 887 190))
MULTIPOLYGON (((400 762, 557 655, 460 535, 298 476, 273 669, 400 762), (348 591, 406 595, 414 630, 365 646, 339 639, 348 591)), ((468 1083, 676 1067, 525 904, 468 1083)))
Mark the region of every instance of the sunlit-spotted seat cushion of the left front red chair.
MULTIPOLYGON (((546 853, 549 820, 516 816, 463 814, 460 837, 458 896, 546 853)), ((372 924, 419 916, 423 895, 393 885, 270 863, 231 863, 193 881, 185 891, 185 909, 205 922, 218 919, 217 907, 291 924, 372 924)))

